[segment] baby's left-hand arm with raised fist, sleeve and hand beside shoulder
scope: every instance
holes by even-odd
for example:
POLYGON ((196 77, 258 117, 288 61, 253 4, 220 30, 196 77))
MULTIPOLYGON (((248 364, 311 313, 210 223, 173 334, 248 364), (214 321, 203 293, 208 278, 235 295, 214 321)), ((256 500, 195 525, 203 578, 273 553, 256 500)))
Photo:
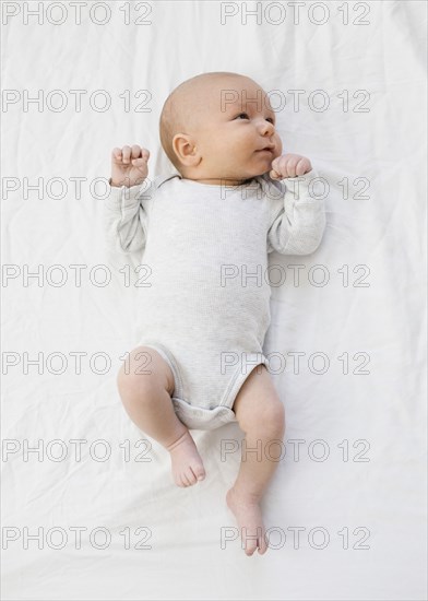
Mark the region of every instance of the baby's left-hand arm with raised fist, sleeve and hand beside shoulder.
POLYGON ((104 228, 109 247, 130 254, 145 246, 147 214, 142 184, 147 177, 150 153, 138 145, 111 152, 110 195, 105 200, 104 228))

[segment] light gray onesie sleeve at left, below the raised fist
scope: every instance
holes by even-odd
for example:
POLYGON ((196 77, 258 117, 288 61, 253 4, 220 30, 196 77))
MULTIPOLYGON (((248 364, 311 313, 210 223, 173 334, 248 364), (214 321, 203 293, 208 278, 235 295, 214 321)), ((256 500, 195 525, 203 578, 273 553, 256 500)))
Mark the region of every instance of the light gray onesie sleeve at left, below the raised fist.
POLYGON ((104 234, 109 249, 129 255, 143 250, 146 241, 152 186, 110 187, 104 201, 104 234))

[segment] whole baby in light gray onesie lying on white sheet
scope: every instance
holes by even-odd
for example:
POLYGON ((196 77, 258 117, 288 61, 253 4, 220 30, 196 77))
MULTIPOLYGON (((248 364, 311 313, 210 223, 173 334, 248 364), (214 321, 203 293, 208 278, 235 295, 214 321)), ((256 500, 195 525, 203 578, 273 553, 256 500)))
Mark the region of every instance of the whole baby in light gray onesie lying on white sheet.
POLYGON ((118 374, 124 409, 168 450, 178 486, 205 478, 189 429, 238 423, 242 457, 226 503, 247 555, 268 549, 259 504, 278 463, 274 449, 281 453, 271 443, 285 431, 262 351, 268 254, 311 254, 325 227, 323 201, 308 189, 318 174, 308 158, 282 154, 275 120, 266 93, 247 76, 185 81, 159 123, 177 174, 150 181, 147 150, 115 148, 105 210, 109 244, 144 251, 150 269, 143 337, 118 374))

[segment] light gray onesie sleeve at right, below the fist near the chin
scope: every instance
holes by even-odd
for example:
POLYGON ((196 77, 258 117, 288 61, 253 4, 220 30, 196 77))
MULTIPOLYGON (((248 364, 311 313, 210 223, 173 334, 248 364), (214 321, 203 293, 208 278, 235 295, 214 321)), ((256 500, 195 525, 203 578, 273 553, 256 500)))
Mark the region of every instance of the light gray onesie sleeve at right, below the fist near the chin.
POLYGON ((325 229, 325 207, 323 199, 309 193, 314 177, 318 174, 311 169, 280 182, 283 195, 281 201, 273 202, 276 214, 268 231, 268 252, 310 255, 319 247, 325 229))

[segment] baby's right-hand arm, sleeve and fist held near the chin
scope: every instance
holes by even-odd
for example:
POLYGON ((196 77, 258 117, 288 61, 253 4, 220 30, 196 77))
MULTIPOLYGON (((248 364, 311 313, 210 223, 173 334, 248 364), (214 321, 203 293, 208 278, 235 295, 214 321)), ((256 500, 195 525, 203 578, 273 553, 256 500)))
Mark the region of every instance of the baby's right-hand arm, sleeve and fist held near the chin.
POLYGON ((310 255, 319 247, 325 229, 324 200, 309 195, 309 182, 318 174, 308 158, 296 154, 272 163, 273 179, 287 178, 283 205, 268 232, 268 252, 310 255))

